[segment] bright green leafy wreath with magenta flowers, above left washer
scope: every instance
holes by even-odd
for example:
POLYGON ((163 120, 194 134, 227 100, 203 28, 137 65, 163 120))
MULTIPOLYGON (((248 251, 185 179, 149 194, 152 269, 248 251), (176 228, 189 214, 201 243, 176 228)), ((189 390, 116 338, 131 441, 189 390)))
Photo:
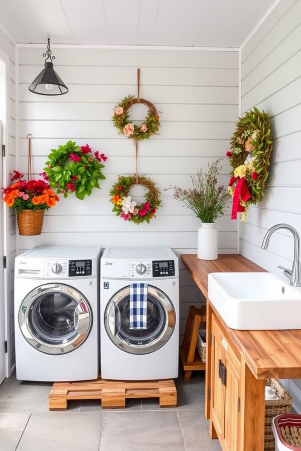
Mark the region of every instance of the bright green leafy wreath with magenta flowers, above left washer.
POLYGON ((107 156, 98 150, 92 153, 91 147, 86 144, 79 147, 76 143, 68 141, 64 146, 52 149, 44 168, 44 178, 57 193, 75 193, 83 200, 86 195, 91 196, 93 188, 100 188, 98 180, 106 177, 102 174, 107 156))

